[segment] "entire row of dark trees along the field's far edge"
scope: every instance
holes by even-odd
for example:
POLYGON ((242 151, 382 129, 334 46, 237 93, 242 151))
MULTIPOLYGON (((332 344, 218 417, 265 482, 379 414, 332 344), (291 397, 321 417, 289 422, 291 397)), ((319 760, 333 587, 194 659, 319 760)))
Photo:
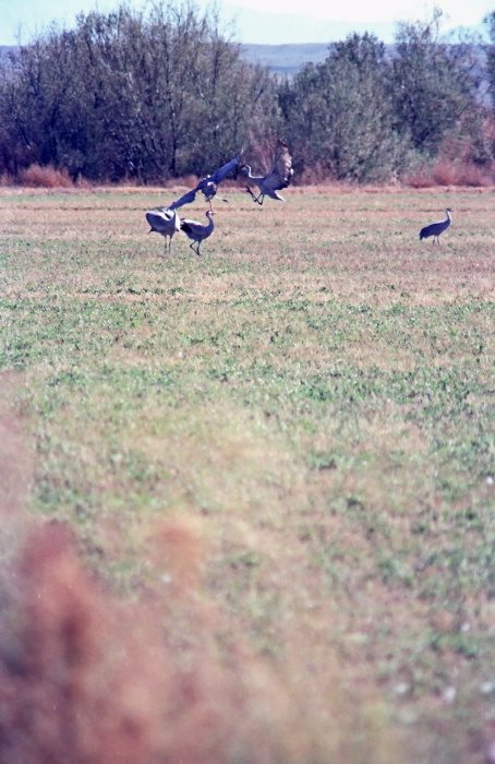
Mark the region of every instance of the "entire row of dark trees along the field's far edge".
MULTIPOLYGON (((243 58, 214 10, 82 13, 0 65, 0 172, 162 182, 242 147, 266 165, 277 135, 303 179, 383 181, 438 156, 491 167, 493 46, 445 41, 440 21, 398 24, 391 49, 351 35, 280 79, 243 58)), ((495 41, 495 12, 486 24, 495 41)))

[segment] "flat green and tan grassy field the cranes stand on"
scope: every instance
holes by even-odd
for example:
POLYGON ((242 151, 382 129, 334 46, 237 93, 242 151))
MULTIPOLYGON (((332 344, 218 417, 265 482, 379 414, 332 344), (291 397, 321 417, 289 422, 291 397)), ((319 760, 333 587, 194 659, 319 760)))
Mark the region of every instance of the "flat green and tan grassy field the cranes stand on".
POLYGON ((494 761, 495 192, 221 190, 201 258, 147 234, 182 188, 2 191, 2 554, 57 520, 116 597, 166 597, 186 518, 318 761, 494 761))

